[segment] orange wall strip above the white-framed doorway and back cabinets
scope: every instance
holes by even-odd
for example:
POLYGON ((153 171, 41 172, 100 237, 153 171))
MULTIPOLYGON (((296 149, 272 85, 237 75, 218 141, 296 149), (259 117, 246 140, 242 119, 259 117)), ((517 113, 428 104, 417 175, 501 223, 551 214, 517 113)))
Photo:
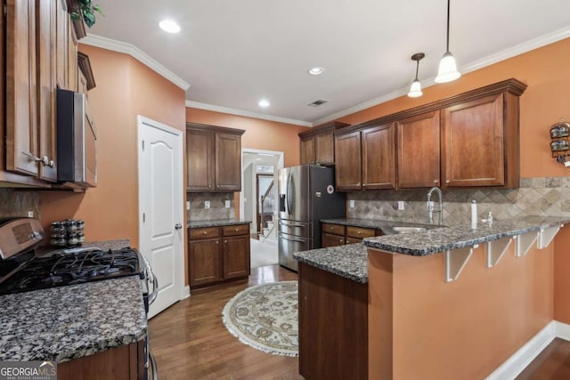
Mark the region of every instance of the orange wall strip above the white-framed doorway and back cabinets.
POLYGON ((186 109, 186 121, 243 129, 241 148, 282 151, 285 166, 299 165, 298 133, 309 128, 205 109, 186 109))

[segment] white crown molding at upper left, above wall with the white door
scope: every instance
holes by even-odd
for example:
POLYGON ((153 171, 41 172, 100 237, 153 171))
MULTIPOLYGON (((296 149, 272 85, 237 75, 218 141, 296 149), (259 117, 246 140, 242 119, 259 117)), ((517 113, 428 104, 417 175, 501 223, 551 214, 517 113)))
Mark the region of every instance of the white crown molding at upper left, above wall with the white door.
POLYGON ((186 83, 181 77, 178 77, 175 73, 165 68, 159 63, 159 61, 154 60, 150 55, 142 52, 142 50, 134 46, 134 44, 126 44, 114 39, 92 34, 87 34, 87 36, 82 38, 79 42, 81 44, 101 47, 102 49, 111 50, 113 52, 128 54, 135 60, 142 62, 142 64, 159 73, 162 77, 167 78, 170 82, 182 88, 184 91, 187 91, 190 88, 190 84, 186 83))

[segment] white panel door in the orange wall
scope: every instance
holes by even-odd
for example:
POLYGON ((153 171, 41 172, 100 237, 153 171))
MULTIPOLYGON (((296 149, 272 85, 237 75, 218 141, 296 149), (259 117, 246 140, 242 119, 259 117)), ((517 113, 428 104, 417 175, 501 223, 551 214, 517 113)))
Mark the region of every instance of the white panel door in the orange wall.
POLYGON ((183 132, 140 116, 138 125, 140 249, 159 280, 153 317, 183 298, 183 132))

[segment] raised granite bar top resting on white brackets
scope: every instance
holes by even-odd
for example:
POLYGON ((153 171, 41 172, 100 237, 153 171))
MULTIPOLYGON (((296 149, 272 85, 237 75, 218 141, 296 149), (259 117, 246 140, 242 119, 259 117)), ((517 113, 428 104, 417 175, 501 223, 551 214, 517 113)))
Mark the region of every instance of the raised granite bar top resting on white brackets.
POLYGON ((367 238, 364 239, 364 245, 387 252, 426 256, 448 249, 469 247, 487 241, 560 226, 568 222, 570 222, 568 217, 526 216, 509 221, 494 221, 491 225, 479 222, 476 229, 472 229, 469 224, 441 227, 423 232, 367 238))

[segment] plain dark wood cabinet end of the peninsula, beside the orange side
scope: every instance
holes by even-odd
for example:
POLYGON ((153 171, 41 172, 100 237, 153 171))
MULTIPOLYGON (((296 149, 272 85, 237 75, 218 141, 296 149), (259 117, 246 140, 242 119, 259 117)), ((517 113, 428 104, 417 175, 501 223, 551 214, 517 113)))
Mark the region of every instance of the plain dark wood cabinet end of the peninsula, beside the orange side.
POLYGON ((299 374, 368 378, 368 284, 299 263, 299 374))

